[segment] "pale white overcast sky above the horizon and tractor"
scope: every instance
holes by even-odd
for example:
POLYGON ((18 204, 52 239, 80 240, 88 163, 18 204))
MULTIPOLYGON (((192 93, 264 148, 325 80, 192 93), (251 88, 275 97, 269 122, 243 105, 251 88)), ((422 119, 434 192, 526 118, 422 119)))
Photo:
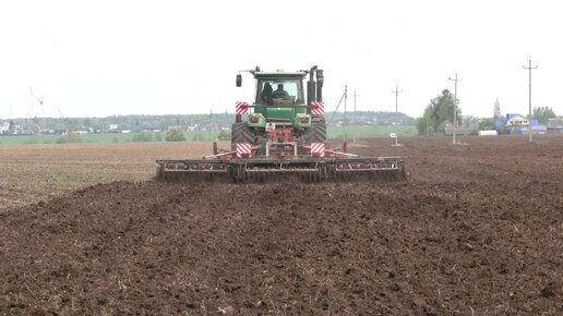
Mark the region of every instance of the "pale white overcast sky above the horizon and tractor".
POLYGON ((463 114, 563 114, 560 1, 2 1, 0 118, 233 112, 238 71, 325 71, 333 110, 420 117, 443 89, 463 114), (31 89, 34 101, 32 109, 31 89), (44 105, 39 105, 39 99, 44 105), (340 110, 344 105, 340 106, 340 110))

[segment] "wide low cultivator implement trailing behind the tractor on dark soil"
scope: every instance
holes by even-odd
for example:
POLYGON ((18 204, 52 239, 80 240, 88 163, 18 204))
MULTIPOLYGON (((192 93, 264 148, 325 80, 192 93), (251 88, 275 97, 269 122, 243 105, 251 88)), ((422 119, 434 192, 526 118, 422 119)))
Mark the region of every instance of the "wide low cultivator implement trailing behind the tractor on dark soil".
POLYGON ((157 179, 177 182, 391 182, 406 179, 405 158, 247 157, 157 160, 157 179))

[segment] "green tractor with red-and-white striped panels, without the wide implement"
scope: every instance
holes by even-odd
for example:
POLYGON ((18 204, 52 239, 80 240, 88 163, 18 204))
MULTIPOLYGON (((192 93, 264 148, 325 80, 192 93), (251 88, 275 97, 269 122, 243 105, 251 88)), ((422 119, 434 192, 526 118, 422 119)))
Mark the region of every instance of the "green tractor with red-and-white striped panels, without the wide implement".
MULTIPOLYGON (((307 155, 307 145, 326 143, 322 70, 313 66, 297 72, 262 72, 256 68, 248 72, 256 82, 255 97, 252 106, 237 104, 231 144, 232 149, 237 144, 252 145, 252 153, 239 153, 239 157, 307 155), (306 95, 303 81, 308 74, 306 95), (247 114, 245 121, 242 114, 247 114)), ((242 75, 238 74, 237 86, 241 85, 242 75)))

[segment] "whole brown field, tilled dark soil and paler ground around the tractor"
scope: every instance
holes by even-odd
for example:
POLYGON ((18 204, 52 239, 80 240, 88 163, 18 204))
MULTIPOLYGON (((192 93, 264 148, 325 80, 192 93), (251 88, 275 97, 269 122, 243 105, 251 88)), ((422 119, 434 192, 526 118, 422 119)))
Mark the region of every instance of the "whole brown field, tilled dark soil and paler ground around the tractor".
POLYGON ((167 184, 207 145, 0 147, 5 315, 563 315, 563 137, 369 139, 388 184, 167 184))

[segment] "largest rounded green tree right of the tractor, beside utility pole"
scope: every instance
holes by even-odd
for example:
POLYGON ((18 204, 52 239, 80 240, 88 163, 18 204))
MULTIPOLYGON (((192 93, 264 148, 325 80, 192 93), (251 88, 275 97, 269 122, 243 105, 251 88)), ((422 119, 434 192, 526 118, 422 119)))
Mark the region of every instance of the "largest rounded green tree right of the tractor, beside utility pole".
MULTIPOLYGON (((442 95, 430 100, 430 105, 424 109, 422 118, 417 120, 419 134, 434 133, 438 126, 445 121, 454 122, 454 95, 444 89, 442 95)), ((462 122, 462 110, 457 108, 457 122, 462 122)))

